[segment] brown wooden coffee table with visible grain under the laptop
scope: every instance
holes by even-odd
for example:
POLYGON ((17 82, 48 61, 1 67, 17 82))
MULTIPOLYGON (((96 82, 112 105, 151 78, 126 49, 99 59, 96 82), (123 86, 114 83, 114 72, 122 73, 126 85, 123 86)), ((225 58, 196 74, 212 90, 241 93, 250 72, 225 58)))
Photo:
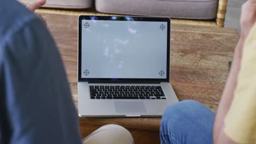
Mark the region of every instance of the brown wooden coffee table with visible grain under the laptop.
MULTIPOLYGON (((78 16, 42 15, 59 47, 77 105, 78 16)), ((235 29, 172 23, 171 84, 179 100, 197 100, 217 110, 237 40, 235 29)), ((160 143, 160 122, 161 118, 79 118, 79 128, 85 137, 104 124, 120 124, 131 131, 135 143, 160 143)))

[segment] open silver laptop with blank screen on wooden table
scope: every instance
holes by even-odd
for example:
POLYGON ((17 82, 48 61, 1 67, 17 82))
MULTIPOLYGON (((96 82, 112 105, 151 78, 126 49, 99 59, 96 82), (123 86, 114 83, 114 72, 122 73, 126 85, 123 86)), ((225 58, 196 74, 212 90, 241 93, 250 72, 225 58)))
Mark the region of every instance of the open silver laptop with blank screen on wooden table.
POLYGON ((161 117, 170 84, 167 17, 78 17, 80 117, 161 117))

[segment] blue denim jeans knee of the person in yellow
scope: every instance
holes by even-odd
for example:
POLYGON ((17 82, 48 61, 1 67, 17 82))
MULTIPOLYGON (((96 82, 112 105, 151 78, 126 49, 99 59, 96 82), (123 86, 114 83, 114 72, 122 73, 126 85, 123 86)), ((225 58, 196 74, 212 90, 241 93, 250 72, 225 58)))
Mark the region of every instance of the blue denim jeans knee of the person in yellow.
POLYGON ((215 114, 193 100, 169 106, 162 116, 162 144, 212 144, 215 114))

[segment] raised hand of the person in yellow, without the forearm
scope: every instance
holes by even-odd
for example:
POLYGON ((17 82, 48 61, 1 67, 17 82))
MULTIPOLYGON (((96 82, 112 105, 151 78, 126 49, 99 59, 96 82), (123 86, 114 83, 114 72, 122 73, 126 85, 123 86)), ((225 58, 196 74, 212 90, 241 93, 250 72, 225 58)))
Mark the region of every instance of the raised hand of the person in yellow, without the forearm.
POLYGON ((241 11, 241 36, 246 38, 256 21, 256 0, 248 0, 242 5, 241 11))

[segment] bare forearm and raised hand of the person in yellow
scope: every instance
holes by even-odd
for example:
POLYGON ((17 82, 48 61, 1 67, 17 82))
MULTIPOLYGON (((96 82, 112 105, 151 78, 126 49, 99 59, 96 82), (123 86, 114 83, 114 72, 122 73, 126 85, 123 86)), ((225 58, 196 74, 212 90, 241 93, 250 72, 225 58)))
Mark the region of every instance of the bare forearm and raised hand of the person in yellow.
POLYGON ((224 118, 228 113, 230 106, 232 104, 232 100, 234 98, 234 91, 237 86, 237 77, 240 73, 241 68, 241 59, 242 52, 245 39, 252 26, 255 23, 256 19, 256 1, 249 0, 242 6, 241 13, 241 37, 237 43, 235 48, 234 60, 232 63, 232 67, 230 70, 230 74, 228 77, 228 81, 226 82, 224 92, 222 95, 222 99, 220 100, 216 120, 214 122, 214 131, 213 131, 213 139, 214 143, 227 143, 232 144, 235 143, 229 139, 228 136, 224 133, 224 118))

